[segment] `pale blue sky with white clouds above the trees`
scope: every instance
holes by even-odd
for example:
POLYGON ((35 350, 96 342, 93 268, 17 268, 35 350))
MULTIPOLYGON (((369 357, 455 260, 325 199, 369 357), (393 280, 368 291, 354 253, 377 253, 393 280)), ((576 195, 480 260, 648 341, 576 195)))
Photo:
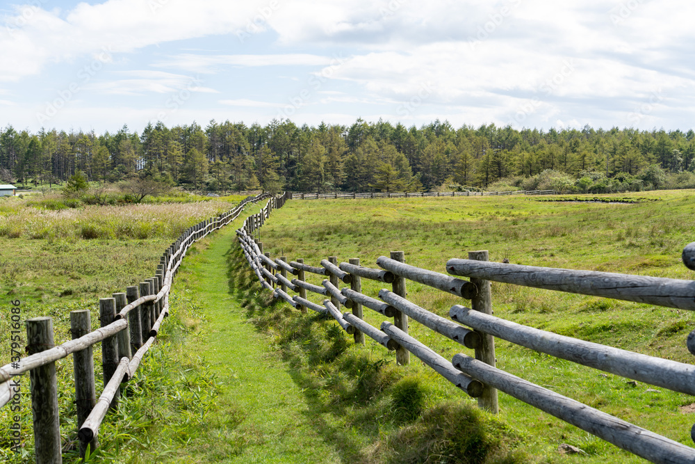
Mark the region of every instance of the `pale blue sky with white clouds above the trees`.
POLYGON ((695 126, 679 0, 0 3, 0 127, 695 126))

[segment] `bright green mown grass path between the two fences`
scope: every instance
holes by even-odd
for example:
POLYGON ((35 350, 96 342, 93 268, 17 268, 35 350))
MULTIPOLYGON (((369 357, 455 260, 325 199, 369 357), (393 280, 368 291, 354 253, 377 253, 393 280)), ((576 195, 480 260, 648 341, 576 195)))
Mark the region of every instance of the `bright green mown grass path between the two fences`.
MULTIPOLYGON (((247 322, 245 309, 230 289, 227 257, 234 237, 234 227, 216 232, 197 245, 199 252, 191 253, 182 266, 191 296, 199 301, 206 319, 196 346, 222 382, 220 407, 208 412, 213 416, 210 420, 224 422, 224 415, 239 413, 243 417, 234 431, 234 440, 241 444, 235 448, 238 454, 218 455, 215 461, 340 462, 311 423, 314 415, 293 382, 290 368, 269 346, 268 337, 247 322)), ((220 440, 225 437, 220 433, 220 440)), ((214 455, 211 451, 206 460, 214 455)))

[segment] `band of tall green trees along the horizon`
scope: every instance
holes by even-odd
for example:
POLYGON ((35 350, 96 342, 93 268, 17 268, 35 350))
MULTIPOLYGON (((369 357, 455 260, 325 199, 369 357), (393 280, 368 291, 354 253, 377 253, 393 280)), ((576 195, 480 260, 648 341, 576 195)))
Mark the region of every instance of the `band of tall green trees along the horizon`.
POLYGON ((545 176, 585 191, 639 190, 659 187, 666 174, 692 173, 694 159, 692 129, 457 129, 439 120, 408 128, 361 118, 318 127, 157 122, 141 134, 127 126, 113 134, 0 129, 0 180, 34 186, 83 173, 90 181, 138 176, 211 191, 431 191, 522 186, 545 176))

